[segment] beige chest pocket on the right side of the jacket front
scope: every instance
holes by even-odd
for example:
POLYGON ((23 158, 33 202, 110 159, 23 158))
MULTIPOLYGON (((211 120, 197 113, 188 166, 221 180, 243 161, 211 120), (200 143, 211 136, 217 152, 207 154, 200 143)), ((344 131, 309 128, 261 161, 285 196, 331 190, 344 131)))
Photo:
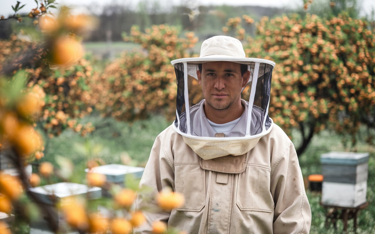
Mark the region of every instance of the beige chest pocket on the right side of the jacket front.
POLYGON ((271 168, 246 164, 237 181, 236 203, 242 211, 272 212, 275 206, 270 192, 271 168))

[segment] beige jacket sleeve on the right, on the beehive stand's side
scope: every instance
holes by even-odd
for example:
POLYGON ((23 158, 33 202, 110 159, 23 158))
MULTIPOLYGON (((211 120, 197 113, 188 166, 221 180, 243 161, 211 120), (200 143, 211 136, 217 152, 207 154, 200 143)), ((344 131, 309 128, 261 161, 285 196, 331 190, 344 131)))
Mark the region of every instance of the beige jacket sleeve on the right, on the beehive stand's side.
POLYGON ((275 201, 273 233, 309 233, 311 209, 293 143, 275 160, 271 170, 275 201))

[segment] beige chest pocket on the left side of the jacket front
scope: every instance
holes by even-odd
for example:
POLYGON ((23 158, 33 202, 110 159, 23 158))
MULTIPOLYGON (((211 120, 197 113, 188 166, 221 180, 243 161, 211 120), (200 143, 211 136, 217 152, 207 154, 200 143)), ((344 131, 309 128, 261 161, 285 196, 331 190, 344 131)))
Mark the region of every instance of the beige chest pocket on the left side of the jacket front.
POLYGON ((199 163, 175 164, 174 186, 180 192, 185 203, 176 209, 179 211, 199 212, 205 205, 205 175, 199 163))

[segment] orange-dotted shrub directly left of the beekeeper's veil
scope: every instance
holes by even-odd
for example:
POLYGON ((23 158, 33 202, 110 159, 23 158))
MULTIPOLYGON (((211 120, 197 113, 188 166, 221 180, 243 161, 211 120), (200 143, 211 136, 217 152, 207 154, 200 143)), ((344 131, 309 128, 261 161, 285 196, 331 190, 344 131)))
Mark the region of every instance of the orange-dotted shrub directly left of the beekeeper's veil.
POLYGON ((105 68, 93 88, 100 101, 96 109, 123 121, 156 112, 173 118, 176 84, 170 62, 190 57, 187 51, 198 41, 192 32, 185 33, 186 38, 179 38, 178 33, 168 25, 154 25, 145 33, 133 27, 124 39, 139 43, 143 51, 126 52, 105 68))

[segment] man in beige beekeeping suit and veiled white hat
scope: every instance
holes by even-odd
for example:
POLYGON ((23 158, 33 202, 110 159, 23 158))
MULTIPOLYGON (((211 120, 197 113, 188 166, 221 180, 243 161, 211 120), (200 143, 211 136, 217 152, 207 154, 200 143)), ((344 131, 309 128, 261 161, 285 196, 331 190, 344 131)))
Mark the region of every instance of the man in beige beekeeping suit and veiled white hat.
MULTIPOLYGON (((199 58, 171 62, 176 119, 157 136, 140 187, 180 192, 182 207, 148 209, 186 233, 309 233, 311 209, 296 150, 268 115, 275 63, 246 58, 242 43, 214 36, 199 58)), ((137 209, 157 207, 138 195, 137 209)))

